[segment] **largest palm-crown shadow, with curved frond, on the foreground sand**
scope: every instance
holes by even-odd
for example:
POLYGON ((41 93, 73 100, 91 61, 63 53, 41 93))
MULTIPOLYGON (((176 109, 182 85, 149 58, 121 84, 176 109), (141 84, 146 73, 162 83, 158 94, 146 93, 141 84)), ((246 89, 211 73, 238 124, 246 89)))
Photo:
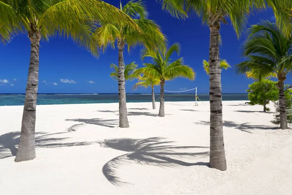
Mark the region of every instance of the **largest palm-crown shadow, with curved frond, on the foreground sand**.
POLYGON ((203 146, 175 146, 173 141, 163 141, 161 137, 150 137, 146 139, 117 138, 106 139, 98 142, 100 146, 125 151, 127 154, 117 156, 109 160, 103 166, 104 176, 113 185, 126 184, 117 176, 120 166, 138 163, 141 165, 154 165, 161 167, 176 166, 209 166, 206 162, 189 163, 180 160, 196 159, 209 155, 209 147, 203 146), (195 152, 200 150, 200 152, 195 152), (203 150, 203 152, 202 152, 203 150), (207 151, 206 151, 207 150, 207 151))

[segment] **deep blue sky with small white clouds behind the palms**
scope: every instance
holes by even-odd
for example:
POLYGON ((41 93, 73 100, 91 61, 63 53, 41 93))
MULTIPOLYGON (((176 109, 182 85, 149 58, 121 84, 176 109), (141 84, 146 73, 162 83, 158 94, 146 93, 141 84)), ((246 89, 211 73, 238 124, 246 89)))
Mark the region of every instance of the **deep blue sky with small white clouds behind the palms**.
MULTIPOLYGON (((118 6, 119 0, 106 0, 118 6)), ((122 0, 125 4, 127 0, 122 0)), ((198 93, 209 93, 209 78, 202 68, 202 60, 208 59, 209 28, 201 25, 199 18, 178 20, 161 10, 161 5, 155 0, 147 0, 149 19, 156 20, 169 43, 181 43, 185 64, 196 72, 195 81, 176 78, 167 81, 164 87, 168 91, 181 91, 198 87, 198 93)), ((249 19, 255 24, 261 19, 273 21, 273 12, 262 12, 249 19)), ((244 60, 241 58, 240 45, 245 39, 237 39, 233 27, 222 25, 220 30, 223 44, 220 47, 220 58, 227 59, 232 65, 222 72, 222 93, 245 93, 252 79, 237 75, 234 65, 244 60)), ((133 48, 124 53, 125 63, 136 61, 142 67, 140 59, 141 47, 133 48)), ((0 93, 25 93, 28 65, 30 58, 30 41, 26 35, 18 36, 8 45, 0 45, 0 93)), ((108 49, 100 54, 98 59, 73 44, 67 39, 50 39, 40 43, 39 58, 39 88, 38 93, 117 93, 117 81, 110 78, 110 63, 117 64, 118 50, 108 49)), ((173 56, 176 59, 177 56, 173 56)), ((136 80, 135 80, 136 81, 136 80)), ((126 82, 127 93, 150 93, 151 89, 132 91, 135 81, 126 82)), ((288 76, 287 84, 292 84, 288 76)), ((159 93, 159 86, 155 93, 159 93)))

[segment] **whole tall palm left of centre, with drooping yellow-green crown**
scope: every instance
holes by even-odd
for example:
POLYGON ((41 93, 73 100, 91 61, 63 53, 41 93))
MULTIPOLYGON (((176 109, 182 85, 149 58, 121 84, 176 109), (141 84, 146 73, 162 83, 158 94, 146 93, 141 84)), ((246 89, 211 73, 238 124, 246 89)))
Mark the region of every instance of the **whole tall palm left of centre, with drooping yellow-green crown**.
POLYGON ((120 3, 120 10, 132 18, 139 16, 139 19, 133 19, 140 28, 135 28, 123 23, 112 24, 111 22, 101 22, 101 27, 97 28, 95 37, 99 45, 105 50, 108 45, 114 47, 117 42, 118 47, 118 86, 119 86, 119 126, 129 127, 126 105, 125 74, 124 74, 124 47, 130 47, 138 44, 145 45, 148 48, 164 46, 165 38, 160 27, 153 21, 147 20, 148 12, 146 5, 142 0, 130 0, 124 7, 120 3))

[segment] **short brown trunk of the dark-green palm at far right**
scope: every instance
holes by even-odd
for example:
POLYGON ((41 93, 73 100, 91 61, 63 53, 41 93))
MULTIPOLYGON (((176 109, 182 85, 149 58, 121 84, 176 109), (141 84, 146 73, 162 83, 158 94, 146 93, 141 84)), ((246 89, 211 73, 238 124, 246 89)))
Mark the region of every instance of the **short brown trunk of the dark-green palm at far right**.
POLYGON ((286 100, 284 97, 284 80, 279 80, 279 108, 280 108, 280 128, 287 129, 287 113, 286 113, 286 100))

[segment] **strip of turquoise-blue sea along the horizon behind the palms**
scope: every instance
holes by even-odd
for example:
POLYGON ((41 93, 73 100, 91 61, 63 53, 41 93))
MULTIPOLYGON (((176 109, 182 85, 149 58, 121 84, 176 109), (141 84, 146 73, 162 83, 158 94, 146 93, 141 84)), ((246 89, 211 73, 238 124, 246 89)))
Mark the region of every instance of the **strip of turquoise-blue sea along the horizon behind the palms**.
MULTIPOLYGON (((198 94, 198 97, 202 101, 209 100, 209 94, 198 94)), ((24 98, 24 94, 0 94, 0 106, 23 105, 24 98)), ((155 94, 155 98, 158 99, 159 94, 155 94)), ((247 100, 247 94, 223 94, 222 99, 223 101, 247 100)), ((165 94, 165 101, 195 101, 195 94, 165 94)), ((39 94, 37 96, 38 105, 114 102, 119 102, 118 94, 39 94)), ((127 102, 151 102, 151 94, 127 94, 127 102)))

